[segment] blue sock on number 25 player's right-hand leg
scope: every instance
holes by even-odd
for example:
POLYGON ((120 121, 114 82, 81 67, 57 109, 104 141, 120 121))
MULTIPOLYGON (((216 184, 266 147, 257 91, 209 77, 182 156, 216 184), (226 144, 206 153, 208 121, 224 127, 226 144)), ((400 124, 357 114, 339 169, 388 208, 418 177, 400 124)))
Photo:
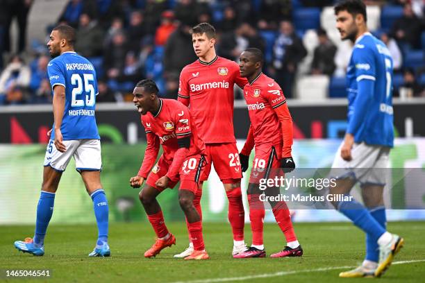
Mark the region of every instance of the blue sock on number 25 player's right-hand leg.
POLYGON ((94 191, 90 197, 93 200, 94 216, 96 216, 97 230, 99 231, 97 246, 102 246, 103 243, 108 242, 108 200, 103 189, 94 191))

